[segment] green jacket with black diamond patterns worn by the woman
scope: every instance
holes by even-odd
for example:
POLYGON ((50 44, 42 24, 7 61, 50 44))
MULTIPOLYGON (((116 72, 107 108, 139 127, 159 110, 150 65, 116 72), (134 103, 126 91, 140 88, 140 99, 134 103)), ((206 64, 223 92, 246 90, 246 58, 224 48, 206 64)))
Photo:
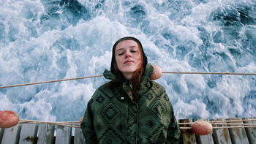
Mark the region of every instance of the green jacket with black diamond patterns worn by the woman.
MULTIPOLYGON (((120 88, 105 83, 88 102, 81 129, 86 144, 179 143, 180 129, 165 88, 149 80, 147 64, 140 84, 139 99, 132 101, 129 82, 120 88)), ((115 77, 105 70, 108 79, 115 77)))

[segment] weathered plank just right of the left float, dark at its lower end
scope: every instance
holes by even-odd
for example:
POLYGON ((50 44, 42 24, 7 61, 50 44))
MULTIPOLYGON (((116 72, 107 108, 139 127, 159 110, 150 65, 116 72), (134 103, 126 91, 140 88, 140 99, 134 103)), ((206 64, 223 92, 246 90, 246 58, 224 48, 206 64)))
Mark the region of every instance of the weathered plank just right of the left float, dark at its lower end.
POLYGON ((19 144, 35 144, 37 143, 37 124, 23 124, 20 131, 19 144))

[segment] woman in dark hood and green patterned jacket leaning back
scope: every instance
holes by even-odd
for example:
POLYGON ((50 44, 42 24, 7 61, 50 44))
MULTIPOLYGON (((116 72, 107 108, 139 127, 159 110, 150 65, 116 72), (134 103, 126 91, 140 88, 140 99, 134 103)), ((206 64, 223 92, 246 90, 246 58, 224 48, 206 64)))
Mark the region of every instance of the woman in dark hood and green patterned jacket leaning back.
POLYGON ((153 67, 140 41, 113 45, 111 81, 97 88, 81 123, 89 143, 179 143, 180 130, 165 88, 151 81, 153 67))

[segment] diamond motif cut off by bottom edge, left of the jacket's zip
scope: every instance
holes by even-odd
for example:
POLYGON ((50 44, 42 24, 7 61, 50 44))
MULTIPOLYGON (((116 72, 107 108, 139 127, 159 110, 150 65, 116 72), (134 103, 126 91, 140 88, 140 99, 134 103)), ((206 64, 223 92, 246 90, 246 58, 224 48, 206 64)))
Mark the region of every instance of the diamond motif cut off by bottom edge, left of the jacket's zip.
POLYGON ((109 143, 109 144, 123 144, 124 139, 116 132, 114 129, 106 129, 102 135, 99 137, 99 141, 109 143))

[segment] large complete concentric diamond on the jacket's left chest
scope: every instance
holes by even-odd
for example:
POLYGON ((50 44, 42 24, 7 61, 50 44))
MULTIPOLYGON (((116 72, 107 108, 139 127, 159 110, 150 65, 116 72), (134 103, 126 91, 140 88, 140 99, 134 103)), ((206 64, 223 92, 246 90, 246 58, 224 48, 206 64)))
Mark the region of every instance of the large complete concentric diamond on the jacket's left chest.
POLYGON ((103 118, 105 118, 108 123, 113 123, 113 121, 116 120, 118 115, 120 115, 121 111, 118 110, 116 105, 113 104, 113 102, 108 103, 100 112, 103 118))

